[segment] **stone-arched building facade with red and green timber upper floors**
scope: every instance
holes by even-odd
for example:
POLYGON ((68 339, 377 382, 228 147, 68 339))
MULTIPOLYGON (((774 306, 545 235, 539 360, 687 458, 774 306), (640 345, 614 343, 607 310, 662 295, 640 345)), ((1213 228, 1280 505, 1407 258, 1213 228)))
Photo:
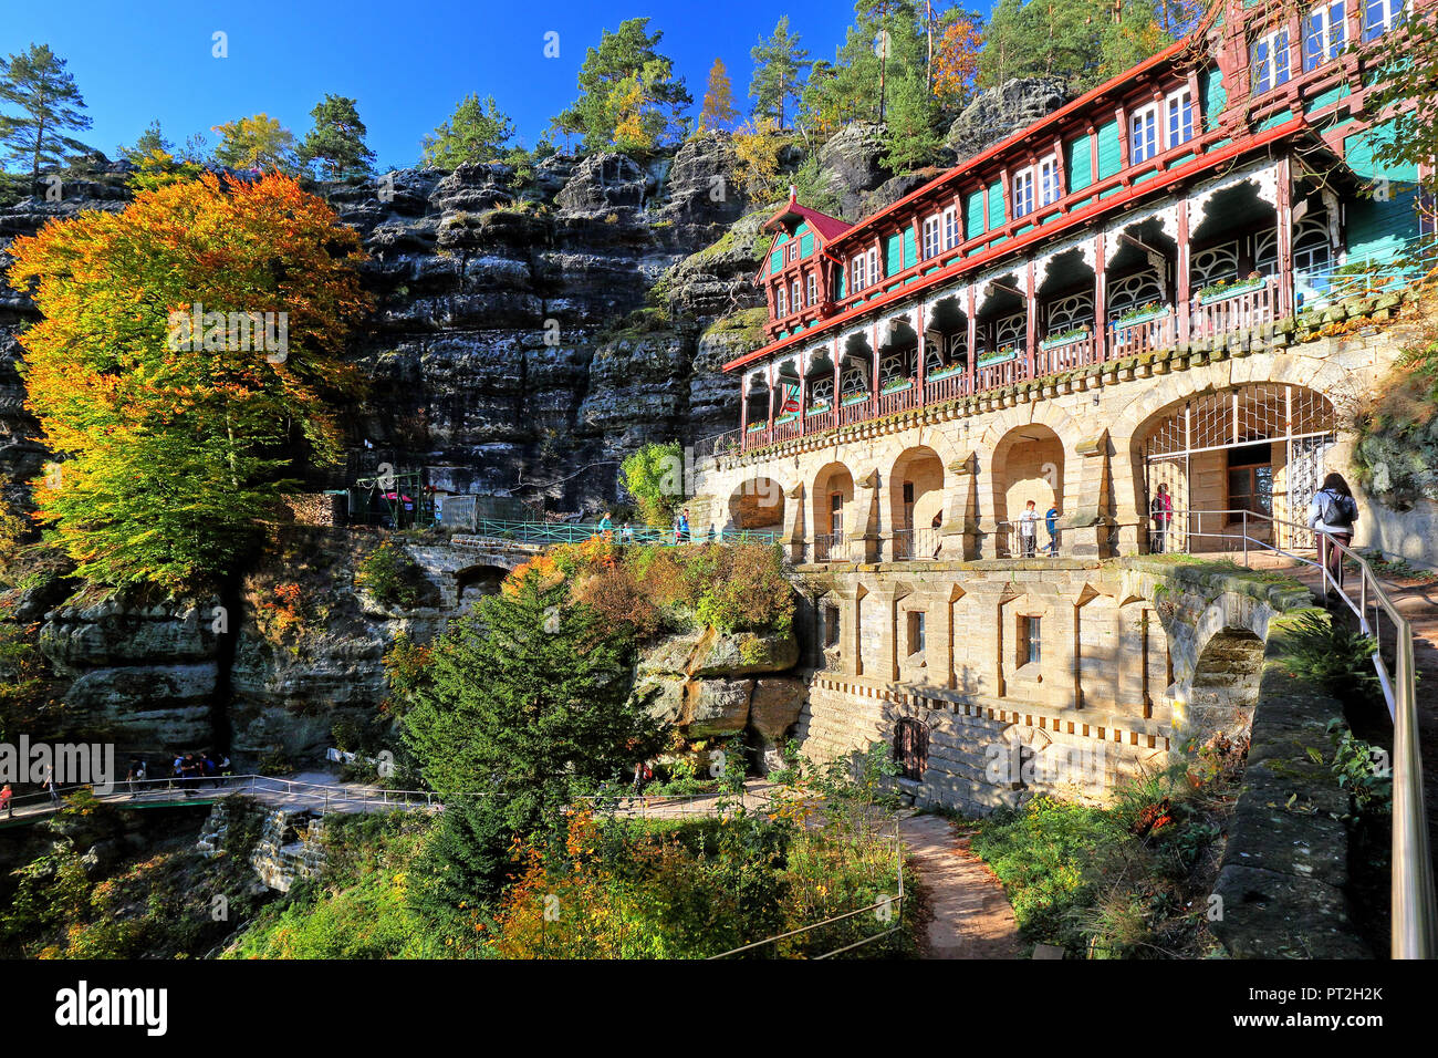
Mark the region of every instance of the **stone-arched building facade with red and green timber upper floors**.
MULTIPOLYGON (((1096 570, 1310 543, 1428 233, 1424 173, 1375 160, 1402 16, 1231 0, 889 209, 847 225, 791 197, 769 220, 766 341, 725 366, 739 428, 699 446, 692 523, 778 531, 823 571, 818 743, 962 741, 958 705, 992 741, 1020 704, 1166 753, 1162 622, 1096 570), (948 702, 939 727, 876 711, 900 687, 948 702)), ((985 802, 984 749, 959 802, 985 802)))

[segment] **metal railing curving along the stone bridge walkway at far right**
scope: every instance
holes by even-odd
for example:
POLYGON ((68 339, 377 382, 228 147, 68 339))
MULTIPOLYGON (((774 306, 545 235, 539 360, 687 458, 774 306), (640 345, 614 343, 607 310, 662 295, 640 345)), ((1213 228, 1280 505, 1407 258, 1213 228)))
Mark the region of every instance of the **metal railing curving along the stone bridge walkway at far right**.
MULTIPOLYGON (((1398 610, 1368 560, 1333 537, 1316 534, 1310 527, 1273 518, 1254 511, 1175 511, 1173 521, 1182 533, 1165 540, 1172 550, 1192 550, 1195 538, 1218 538, 1224 550, 1241 553, 1244 566, 1254 551, 1271 551, 1319 571, 1324 597, 1340 600, 1357 619, 1363 635, 1373 639, 1373 669, 1383 691, 1388 715, 1393 721, 1393 851, 1392 851, 1392 956, 1393 959, 1432 959, 1438 956, 1438 908, 1434 901, 1432 861, 1428 855, 1428 816, 1424 806, 1424 766, 1418 753, 1418 695, 1414 665, 1414 633, 1398 610), (1194 514, 1224 515, 1224 527, 1212 531, 1192 528, 1194 514), (1314 540, 1317 537, 1317 540, 1314 540), (1280 546, 1274 541, 1288 541, 1280 546), (1303 543, 1317 543, 1314 556, 1303 554, 1303 543), (1327 559, 1339 553, 1334 576, 1327 559), (1343 561, 1357 567, 1357 590, 1343 584, 1343 561), (1388 646, 1393 664, 1383 658, 1383 619, 1391 626, 1388 646)), ((1172 531, 1172 523, 1155 524, 1172 531)))

